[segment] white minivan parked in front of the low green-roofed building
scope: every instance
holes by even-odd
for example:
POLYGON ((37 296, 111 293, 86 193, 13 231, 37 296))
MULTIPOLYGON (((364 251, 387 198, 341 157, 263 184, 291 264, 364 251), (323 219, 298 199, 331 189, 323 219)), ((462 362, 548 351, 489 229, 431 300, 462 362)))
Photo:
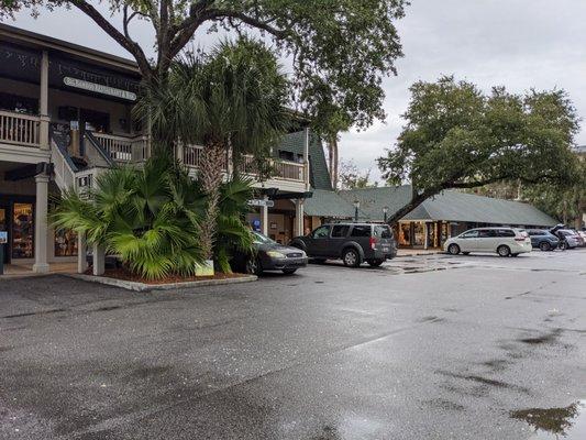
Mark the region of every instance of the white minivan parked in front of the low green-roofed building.
POLYGON ((461 252, 496 252, 499 256, 518 256, 531 252, 529 234, 517 228, 477 228, 449 239, 444 249, 452 255, 461 252))

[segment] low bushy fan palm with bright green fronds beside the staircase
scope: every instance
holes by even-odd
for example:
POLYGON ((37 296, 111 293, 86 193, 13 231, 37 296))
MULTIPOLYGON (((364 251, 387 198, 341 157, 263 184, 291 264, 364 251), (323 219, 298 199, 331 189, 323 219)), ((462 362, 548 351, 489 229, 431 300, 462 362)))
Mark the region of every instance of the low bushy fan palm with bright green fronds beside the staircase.
POLYGON ((144 168, 108 169, 86 195, 65 191, 52 212, 57 229, 103 244, 145 278, 194 275, 201 263, 197 215, 201 198, 176 164, 150 160, 144 168))

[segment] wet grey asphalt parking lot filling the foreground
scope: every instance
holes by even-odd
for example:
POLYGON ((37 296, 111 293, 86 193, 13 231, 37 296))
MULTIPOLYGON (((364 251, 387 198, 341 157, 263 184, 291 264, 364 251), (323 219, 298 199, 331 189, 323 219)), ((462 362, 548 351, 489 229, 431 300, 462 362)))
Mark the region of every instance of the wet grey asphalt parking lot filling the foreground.
POLYGON ((585 398, 586 250, 0 280, 1 439, 584 439, 585 398))

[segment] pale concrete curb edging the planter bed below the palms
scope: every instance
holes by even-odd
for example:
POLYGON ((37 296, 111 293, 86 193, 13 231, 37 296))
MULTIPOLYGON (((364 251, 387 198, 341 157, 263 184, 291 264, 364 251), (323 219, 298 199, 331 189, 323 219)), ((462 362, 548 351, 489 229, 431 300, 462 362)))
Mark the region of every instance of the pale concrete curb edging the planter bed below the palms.
POLYGON ((126 290, 147 292, 147 290, 174 290, 187 287, 203 287, 203 286, 222 286, 225 284, 240 284, 255 282, 258 277, 256 275, 245 275, 237 278, 225 279, 201 279, 199 282, 185 283, 169 283, 169 284, 145 284, 137 282, 129 282, 126 279, 109 278, 106 276, 93 276, 85 274, 62 274, 70 278, 81 279, 90 283, 100 283, 109 286, 121 287, 126 290))

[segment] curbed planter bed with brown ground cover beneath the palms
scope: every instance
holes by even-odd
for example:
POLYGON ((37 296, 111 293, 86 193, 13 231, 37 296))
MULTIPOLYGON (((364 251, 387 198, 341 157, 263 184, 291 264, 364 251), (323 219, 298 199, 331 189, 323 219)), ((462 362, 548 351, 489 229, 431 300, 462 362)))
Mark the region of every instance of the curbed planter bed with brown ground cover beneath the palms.
POLYGON ((223 284, 247 283, 257 279, 255 275, 217 273, 213 276, 169 276, 164 279, 152 280, 144 279, 123 268, 107 268, 102 276, 92 275, 91 268, 88 268, 85 274, 68 274, 68 276, 137 292, 217 286, 223 284))

